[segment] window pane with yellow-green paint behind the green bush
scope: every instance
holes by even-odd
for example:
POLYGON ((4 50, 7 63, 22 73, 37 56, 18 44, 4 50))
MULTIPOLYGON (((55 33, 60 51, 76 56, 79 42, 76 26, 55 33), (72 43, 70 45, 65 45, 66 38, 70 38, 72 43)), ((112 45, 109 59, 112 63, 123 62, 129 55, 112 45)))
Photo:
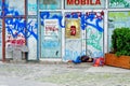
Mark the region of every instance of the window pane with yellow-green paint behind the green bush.
POLYGON ((112 51, 113 30, 121 27, 130 27, 130 12, 108 12, 108 52, 112 51))

